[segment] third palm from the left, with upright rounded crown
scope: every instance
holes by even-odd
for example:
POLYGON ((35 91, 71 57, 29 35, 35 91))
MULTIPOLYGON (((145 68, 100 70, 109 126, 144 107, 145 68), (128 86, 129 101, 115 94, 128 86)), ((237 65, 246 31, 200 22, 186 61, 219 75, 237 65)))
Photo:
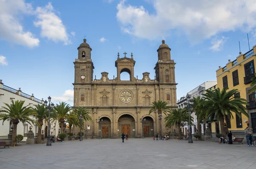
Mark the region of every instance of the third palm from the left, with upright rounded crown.
POLYGON ((70 110, 72 110, 72 108, 66 102, 60 102, 59 104, 56 104, 56 106, 53 109, 54 119, 56 121, 59 121, 61 125, 61 134, 63 133, 64 122, 68 121, 68 119, 70 118, 70 110))

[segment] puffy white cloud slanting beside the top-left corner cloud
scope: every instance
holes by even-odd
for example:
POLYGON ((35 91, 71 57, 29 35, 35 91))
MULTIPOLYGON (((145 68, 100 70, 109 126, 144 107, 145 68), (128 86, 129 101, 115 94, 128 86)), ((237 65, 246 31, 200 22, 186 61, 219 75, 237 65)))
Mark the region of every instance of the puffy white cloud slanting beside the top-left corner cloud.
POLYGON ((54 13, 54 8, 51 3, 44 7, 37 7, 35 10, 38 20, 34 22, 36 27, 41 27, 41 36, 47 37, 57 43, 64 42, 64 45, 71 44, 71 40, 67 34, 66 28, 62 20, 54 13))

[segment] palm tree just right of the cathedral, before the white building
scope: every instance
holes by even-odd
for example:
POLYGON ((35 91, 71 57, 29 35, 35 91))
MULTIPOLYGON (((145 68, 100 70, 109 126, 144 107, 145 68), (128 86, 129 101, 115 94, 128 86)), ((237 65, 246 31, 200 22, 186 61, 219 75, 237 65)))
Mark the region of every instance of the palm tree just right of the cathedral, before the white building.
MULTIPOLYGON (((180 138, 181 125, 185 125, 186 122, 189 122, 189 113, 188 109, 172 109, 170 114, 165 117, 165 126, 170 128, 175 126, 178 129, 178 137, 180 138)), ((193 123, 193 117, 190 116, 190 123, 193 123)))

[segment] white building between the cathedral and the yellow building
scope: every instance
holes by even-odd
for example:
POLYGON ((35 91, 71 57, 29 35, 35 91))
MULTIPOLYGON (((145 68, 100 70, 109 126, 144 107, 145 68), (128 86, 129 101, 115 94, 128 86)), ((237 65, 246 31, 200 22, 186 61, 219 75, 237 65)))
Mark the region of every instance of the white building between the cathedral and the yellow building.
MULTIPOLYGON (((205 94, 205 91, 207 89, 215 89, 217 86, 217 81, 206 81, 204 83, 202 83, 201 85, 197 86, 195 89, 189 91, 186 94, 186 97, 188 95, 191 96, 190 99, 192 99, 193 97, 203 97, 203 94, 205 94)), ((186 97, 181 97, 180 100, 177 101, 177 106, 180 109, 183 109, 184 107, 187 106, 187 98, 186 97)), ((192 125, 192 134, 195 134, 195 131, 197 129, 197 117, 195 115, 195 112, 192 112, 192 117, 194 118, 194 122, 192 125)), ((186 135, 187 134, 187 130, 189 129, 189 125, 187 124, 186 126, 182 127, 182 132, 186 135)), ((206 129, 206 124, 202 123, 201 124, 201 129, 202 129, 202 134, 204 135, 204 131, 206 129)))

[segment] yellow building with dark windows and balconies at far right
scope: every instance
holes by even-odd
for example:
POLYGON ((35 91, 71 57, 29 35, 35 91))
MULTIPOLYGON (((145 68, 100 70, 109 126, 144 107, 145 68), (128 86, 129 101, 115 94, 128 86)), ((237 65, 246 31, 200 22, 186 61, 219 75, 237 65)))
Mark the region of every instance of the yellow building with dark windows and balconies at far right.
MULTIPOLYGON (((247 106, 247 112, 250 116, 249 119, 245 115, 239 117, 235 113, 233 113, 233 119, 226 119, 227 128, 235 133, 244 132, 244 129, 247 127, 245 123, 247 120, 250 122, 250 127, 256 131, 256 95, 255 93, 247 95, 248 89, 251 88, 251 78, 255 76, 254 65, 256 65, 256 45, 245 54, 241 54, 240 52, 236 60, 228 60, 226 66, 219 66, 219 69, 216 70, 218 87, 221 90, 223 88, 238 89, 239 93, 237 96, 247 99, 250 104, 247 106)), ((212 129, 212 132, 219 132, 216 125, 212 129)))

